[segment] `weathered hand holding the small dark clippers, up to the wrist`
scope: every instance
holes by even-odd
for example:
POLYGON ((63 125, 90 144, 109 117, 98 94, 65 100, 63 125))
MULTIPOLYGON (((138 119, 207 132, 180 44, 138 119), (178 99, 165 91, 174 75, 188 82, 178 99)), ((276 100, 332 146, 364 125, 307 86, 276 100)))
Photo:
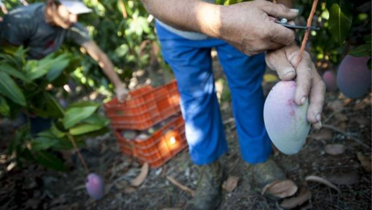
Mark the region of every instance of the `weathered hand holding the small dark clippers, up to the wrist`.
POLYGON ((278 49, 295 40, 294 30, 275 23, 275 18, 294 19, 298 10, 265 0, 224 6, 221 9, 219 38, 247 55, 278 49))

